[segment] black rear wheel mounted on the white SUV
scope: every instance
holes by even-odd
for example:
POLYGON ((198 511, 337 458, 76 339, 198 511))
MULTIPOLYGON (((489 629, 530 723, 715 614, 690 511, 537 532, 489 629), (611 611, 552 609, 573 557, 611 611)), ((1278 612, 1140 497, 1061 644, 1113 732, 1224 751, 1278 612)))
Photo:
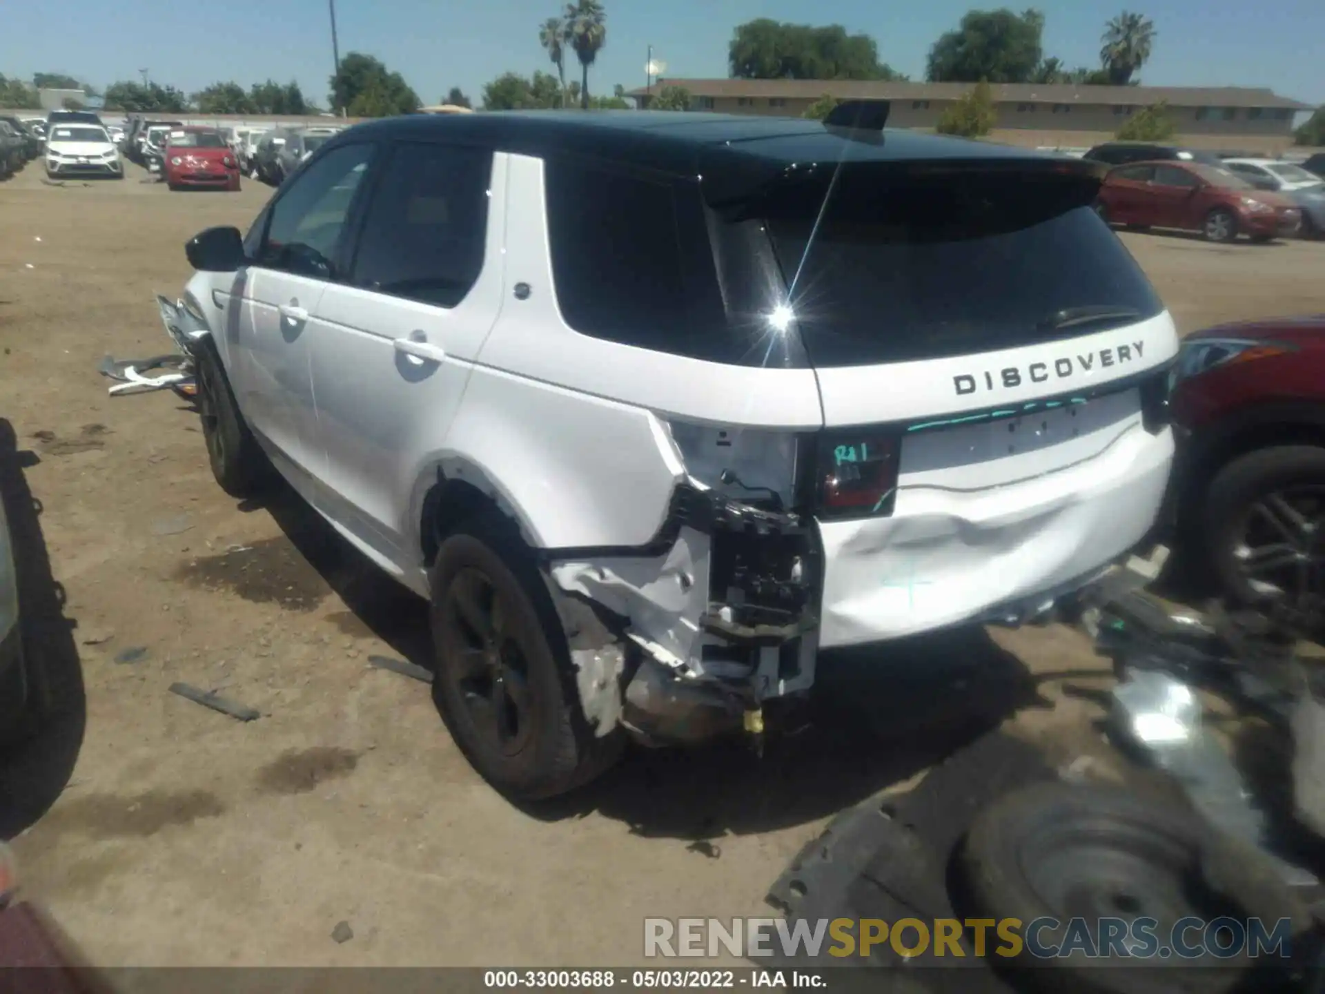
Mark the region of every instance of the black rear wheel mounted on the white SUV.
POLYGON ((584 721, 556 611, 517 538, 486 521, 461 527, 437 551, 431 587, 433 700, 484 779, 533 801, 616 758, 620 734, 596 738, 584 721))

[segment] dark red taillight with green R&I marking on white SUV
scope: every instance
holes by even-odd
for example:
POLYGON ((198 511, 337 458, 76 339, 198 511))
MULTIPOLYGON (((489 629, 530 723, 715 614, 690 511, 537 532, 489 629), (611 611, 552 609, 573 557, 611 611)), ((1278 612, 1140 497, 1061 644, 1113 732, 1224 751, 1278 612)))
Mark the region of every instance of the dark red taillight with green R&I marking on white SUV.
POLYGON ((819 514, 885 517, 897 502, 901 440, 888 432, 833 432, 819 449, 819 514))

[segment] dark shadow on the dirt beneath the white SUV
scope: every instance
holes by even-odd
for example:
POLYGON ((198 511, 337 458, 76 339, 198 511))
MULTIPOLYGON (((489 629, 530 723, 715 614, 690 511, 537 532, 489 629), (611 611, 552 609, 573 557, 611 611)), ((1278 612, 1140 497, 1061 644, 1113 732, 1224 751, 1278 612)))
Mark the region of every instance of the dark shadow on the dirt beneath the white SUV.
MULTIPOLYGON (((432 669, 425 603, 351 549, 289 486, 266 510, 352 612, 403 659, 432 669)), ((837 814, 900 783, 1028 706, 1051 706, 1039 680, 982 628, 824 653, 808 724, 697 749, 631 747, 604 777, 521 808, 541 820, 598 811, 645 836, 686 839, 705 855, 722 835, 763 832, 837 814)), ((440 718, 439 718, 440 722, 440 718)), ((717 848, 721 848, 719 846, 717 848)))

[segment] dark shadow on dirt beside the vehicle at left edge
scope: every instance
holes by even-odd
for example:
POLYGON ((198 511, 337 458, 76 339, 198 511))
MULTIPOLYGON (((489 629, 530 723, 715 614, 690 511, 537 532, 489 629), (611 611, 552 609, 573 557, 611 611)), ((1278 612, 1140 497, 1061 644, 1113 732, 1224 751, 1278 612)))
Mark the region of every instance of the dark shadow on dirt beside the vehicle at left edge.
POLYGON ((87 724, 76 623, 65 618, 65 591, 50 573, 41 504, 24 469, 38 463, 20 451, 13 425, 0 419, 0 500, 19 579, 20 626, 29 698, 40 718, 30 738, 0 749, 0 839, 40 819, 69 783, 87 724))

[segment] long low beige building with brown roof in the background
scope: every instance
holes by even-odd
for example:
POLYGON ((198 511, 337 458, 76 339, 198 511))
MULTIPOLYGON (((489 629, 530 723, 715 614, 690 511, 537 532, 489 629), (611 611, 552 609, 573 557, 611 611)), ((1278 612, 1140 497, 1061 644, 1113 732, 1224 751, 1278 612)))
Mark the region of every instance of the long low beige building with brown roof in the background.
MULTIPOLYGON (((824 94, 892 102, 889 127, 933 129, 971 83, 897 83, 849 80, 659 80, 628 95, 648 106, 665 86, 682 86, 692 110, 800 117, 824 94)), ((1036 146, 1090 146, 1112 138, 1129 115, 1165 101, 1178 125, 1175 142, 1231 151, 1280 151, 1293 140, 1297 111, 1312 110, 1265 89, 1240 86, 1075 86, 996 83, 991 93, 996 140, 1036 146)))

